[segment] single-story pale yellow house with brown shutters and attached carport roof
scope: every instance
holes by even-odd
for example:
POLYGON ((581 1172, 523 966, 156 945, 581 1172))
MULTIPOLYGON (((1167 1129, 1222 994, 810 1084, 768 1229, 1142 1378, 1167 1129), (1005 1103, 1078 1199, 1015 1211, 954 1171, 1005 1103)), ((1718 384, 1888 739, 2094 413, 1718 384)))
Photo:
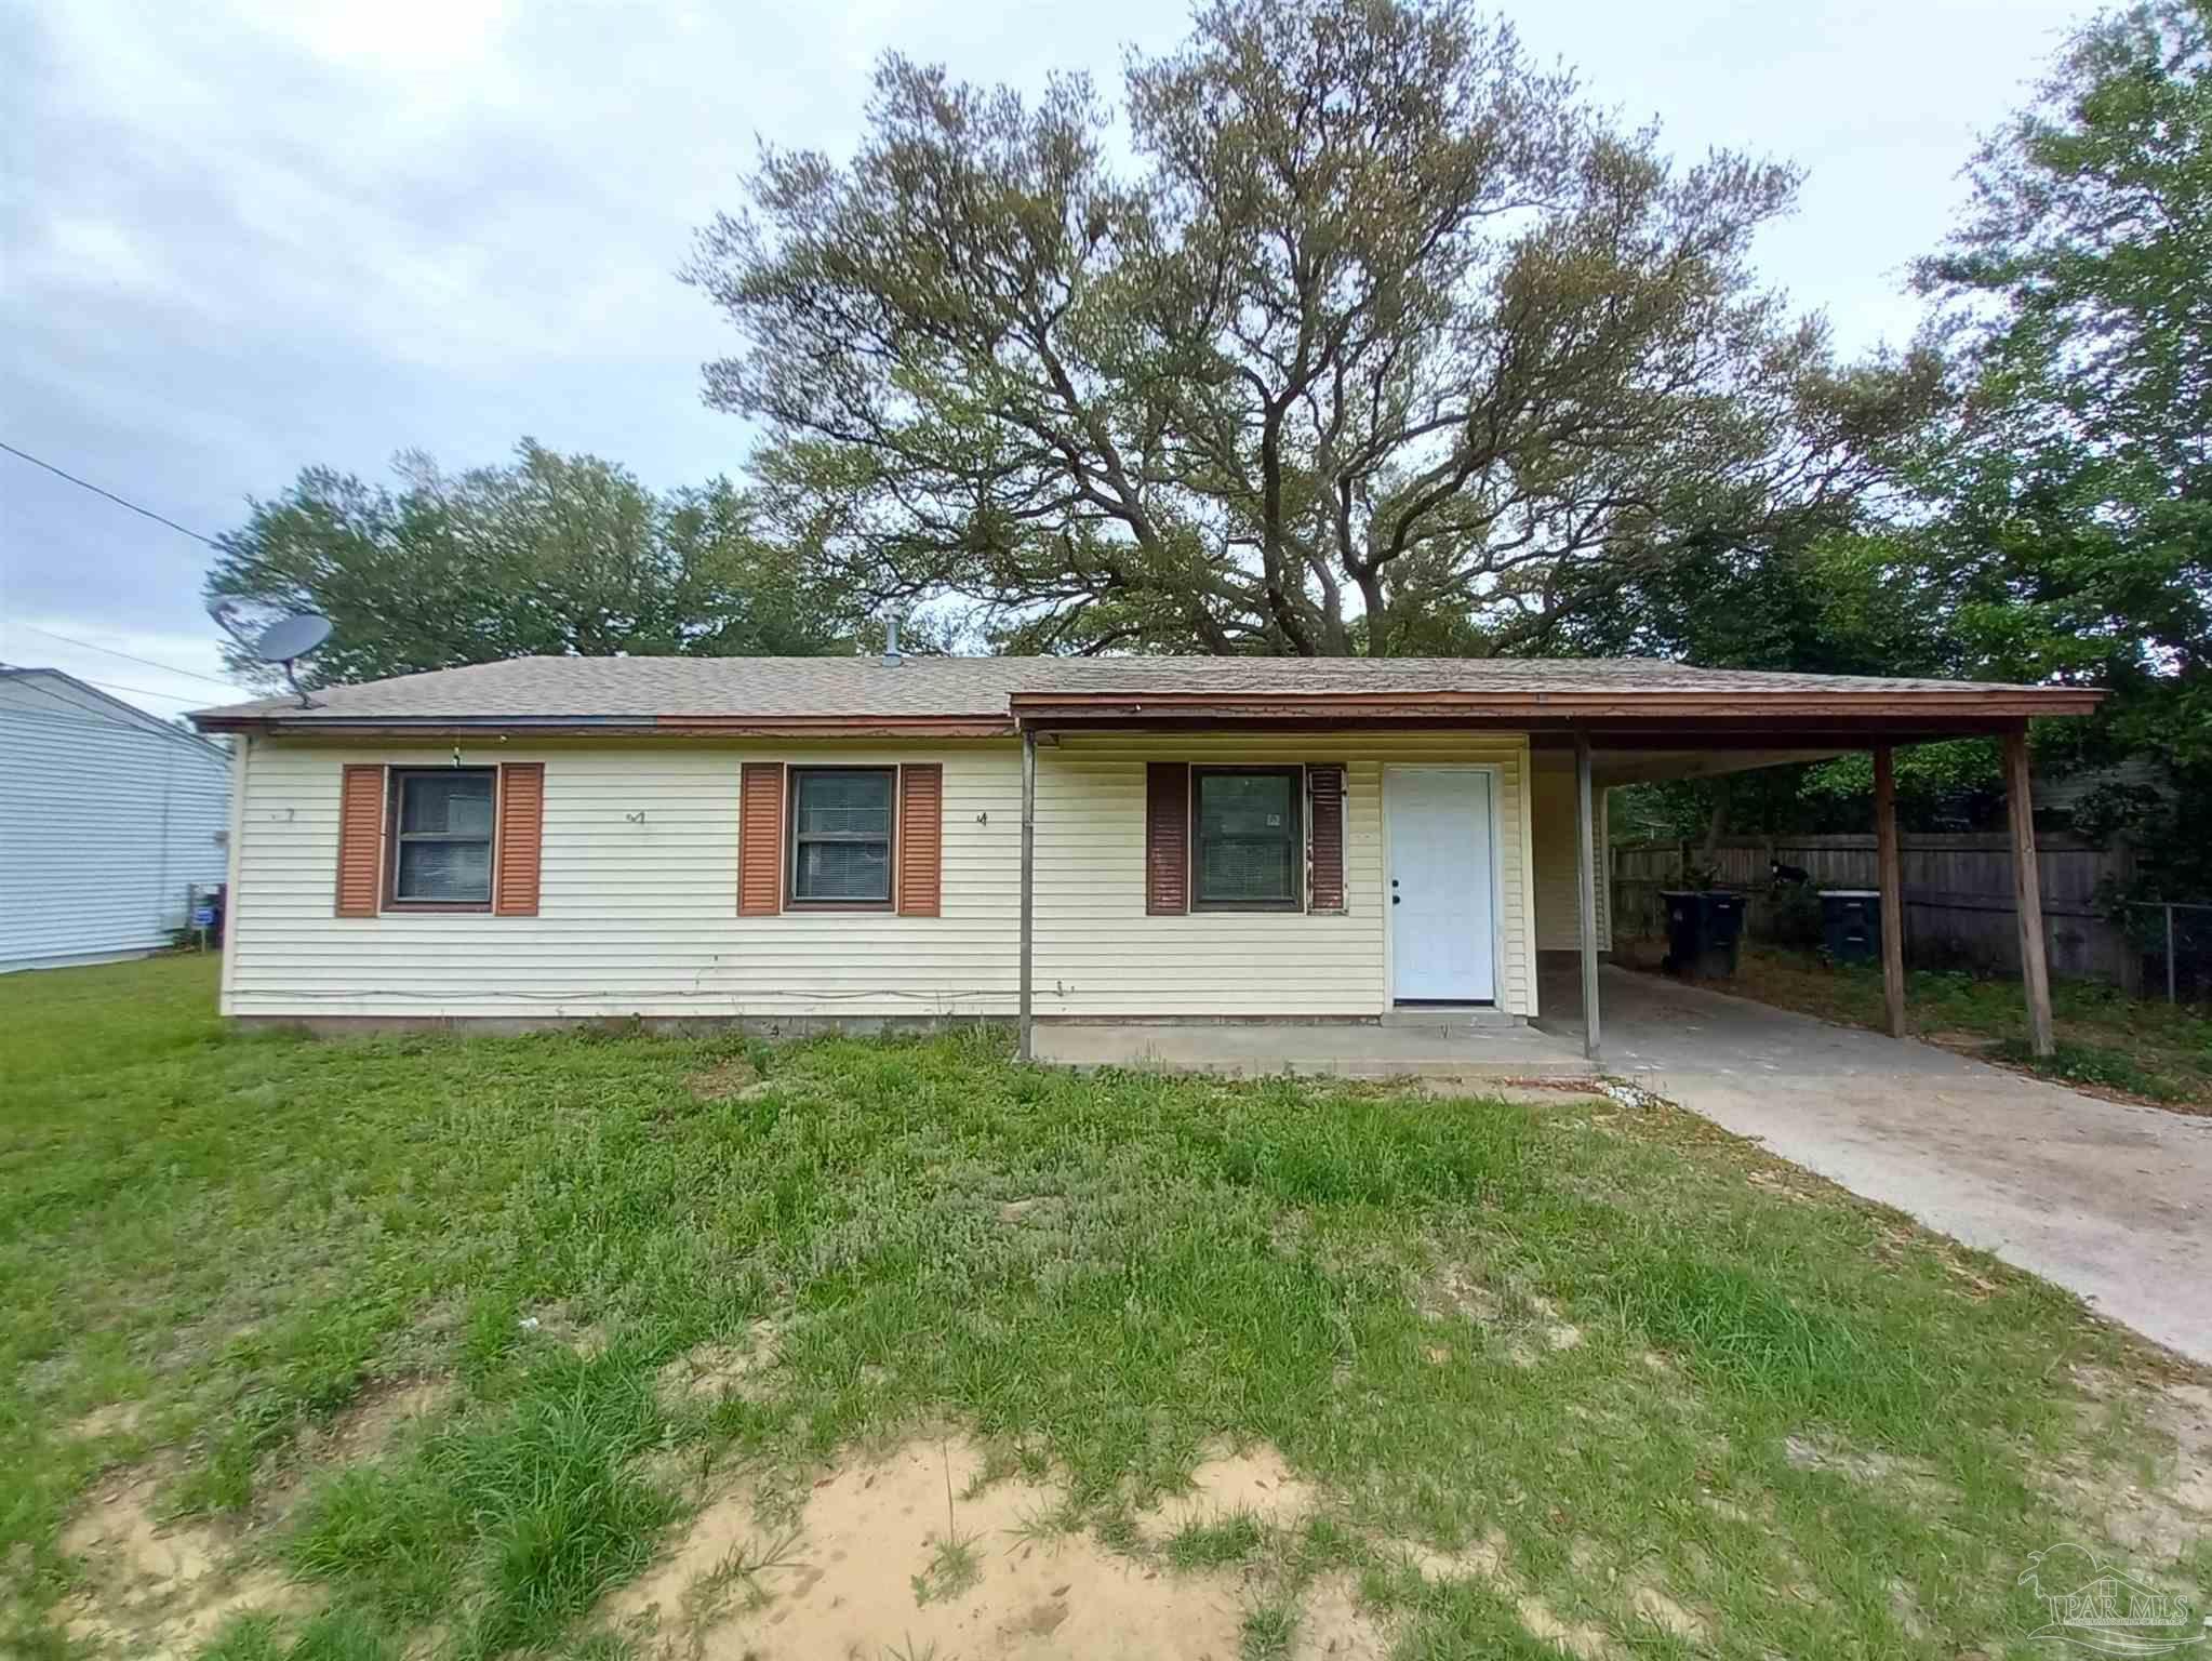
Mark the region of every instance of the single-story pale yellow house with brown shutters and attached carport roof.
MULTIPOLYGON (((1666 661, 533 657, 237 739, 241 1017, 1528 1022, 1608 785, 2095 692, 1666 661)), ((2022 825, 2033 838, 2033 827, 2022 825)), ((2033 860, 2028 860, 2033 871, 2033 860)))

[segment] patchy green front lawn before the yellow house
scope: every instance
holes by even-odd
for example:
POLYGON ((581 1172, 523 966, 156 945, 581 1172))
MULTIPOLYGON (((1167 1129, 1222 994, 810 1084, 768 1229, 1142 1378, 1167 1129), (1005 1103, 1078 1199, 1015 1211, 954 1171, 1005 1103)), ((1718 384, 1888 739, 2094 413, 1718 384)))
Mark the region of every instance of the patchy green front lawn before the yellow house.
MULTIPOLYGON (((646 1654, 619 1588, 732 1486, 675 1652, 785 1654, 810 1495, 911 1438, 987 1460, 960 1506, 1057 1495, 1024 1555, 1212 1577, 1248 1657, 1325 1595, 1400 1659, 2028 1654, 2059 1539, 2212 1590, 2201 1376, 1690 1115, 212 989, 0 980, 0 1654, 646 1654), (1316 1500, 1148 1533, 1223 1449, 1316 1500)), ((953 1515, 883 1575, 927 1621, 1011 1550, 953 1515)))

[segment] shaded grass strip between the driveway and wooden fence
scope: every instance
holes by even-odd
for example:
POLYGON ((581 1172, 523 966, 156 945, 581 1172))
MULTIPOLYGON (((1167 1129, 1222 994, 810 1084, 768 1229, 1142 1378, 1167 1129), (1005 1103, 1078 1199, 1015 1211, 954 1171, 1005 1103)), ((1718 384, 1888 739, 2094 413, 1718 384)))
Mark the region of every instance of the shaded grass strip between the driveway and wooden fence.
MULTIPOLYGON (((1663 953, 1659 940, 1621 940, 1617 960, 1657 969, 1663 953)), ((1889 1020, 1880 964, 1829 964, 1814 951, 1745 942, 1736 973, 1712 984, 1845 1026, 1882 1028, 1889 1020)), ((1922 1037, 2059 1084, 2212 1112, 2212 1017, 2192 1004, 2124 997, 2097 980, 2055 980, 2057 1053, 2037 1057, 2017 980, 1916 969, 1905 980, 1905 1020, 1922 1037)))

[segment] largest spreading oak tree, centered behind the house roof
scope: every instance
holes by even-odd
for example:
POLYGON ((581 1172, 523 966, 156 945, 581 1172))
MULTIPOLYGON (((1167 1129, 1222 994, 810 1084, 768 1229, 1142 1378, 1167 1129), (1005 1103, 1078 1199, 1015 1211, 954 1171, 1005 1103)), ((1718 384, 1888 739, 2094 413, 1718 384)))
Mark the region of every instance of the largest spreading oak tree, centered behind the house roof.
POLYGON ((1024 102, 887 58, 849 164, 701 232, 779 535, 1006 650, 1546 650, 1836 524, 1924 418, 1750 270, 1796 175, 1681 166, 1455 0, 1214 0, 1024 102))

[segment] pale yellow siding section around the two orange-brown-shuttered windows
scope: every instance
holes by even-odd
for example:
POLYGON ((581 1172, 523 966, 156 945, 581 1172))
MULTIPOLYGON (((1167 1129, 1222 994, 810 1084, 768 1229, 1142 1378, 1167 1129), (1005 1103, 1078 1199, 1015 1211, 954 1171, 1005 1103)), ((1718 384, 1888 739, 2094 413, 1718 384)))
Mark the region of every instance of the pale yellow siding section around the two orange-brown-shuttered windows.
POLYGON ((544 761, 535 918, 334 918, 338 770, 445 750, 257 743, 241 814, 237 1015, 975 1015, 1015 991, 1020 750, 469 748, 544 761), (945 913, 737 916, 739 761, 945 763, 945 913), (980 818, 978 818, 980 816, 980 818))

